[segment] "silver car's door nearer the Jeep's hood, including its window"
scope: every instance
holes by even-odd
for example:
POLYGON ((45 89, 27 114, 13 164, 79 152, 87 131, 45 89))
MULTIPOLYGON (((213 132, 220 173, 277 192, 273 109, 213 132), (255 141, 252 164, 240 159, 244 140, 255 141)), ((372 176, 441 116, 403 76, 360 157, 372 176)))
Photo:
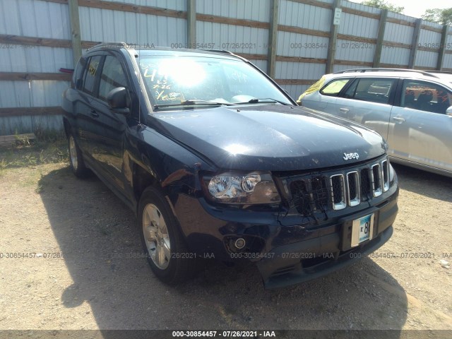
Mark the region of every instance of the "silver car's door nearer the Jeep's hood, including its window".
POLYGON ((356 78, 337 98, 335 115, 366 125, 387 138, 396 85, 397 78, 356 78))

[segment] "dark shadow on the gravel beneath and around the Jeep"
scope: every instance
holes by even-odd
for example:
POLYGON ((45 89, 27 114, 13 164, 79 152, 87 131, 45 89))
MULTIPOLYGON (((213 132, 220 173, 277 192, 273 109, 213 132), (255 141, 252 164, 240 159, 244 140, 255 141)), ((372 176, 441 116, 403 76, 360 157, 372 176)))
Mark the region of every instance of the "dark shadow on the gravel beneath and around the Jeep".
POLYGON ((167 287, 141 256, 135 216, 100 180, 76 179, 66 167, 44 175, 40 187, 74 282, 63 303, 88 302, 101 330, 398 330, 406 321, 405 292, 369 258, 281 290, 263 290, 251 264, 210 263, 195 280, 167 287))

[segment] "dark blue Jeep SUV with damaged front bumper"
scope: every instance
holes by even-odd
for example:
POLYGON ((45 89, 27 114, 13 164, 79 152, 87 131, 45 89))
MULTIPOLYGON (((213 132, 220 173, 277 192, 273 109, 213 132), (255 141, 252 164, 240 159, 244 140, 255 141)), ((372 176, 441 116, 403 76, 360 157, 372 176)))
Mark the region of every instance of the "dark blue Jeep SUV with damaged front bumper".
POLYGON ((398 180, 378 133, 298 107, 230 52, 88 49, 64 93, 77 177, 137 215, 155 275, 256 262, 266 287, 346 266, 393 233, 398 180))

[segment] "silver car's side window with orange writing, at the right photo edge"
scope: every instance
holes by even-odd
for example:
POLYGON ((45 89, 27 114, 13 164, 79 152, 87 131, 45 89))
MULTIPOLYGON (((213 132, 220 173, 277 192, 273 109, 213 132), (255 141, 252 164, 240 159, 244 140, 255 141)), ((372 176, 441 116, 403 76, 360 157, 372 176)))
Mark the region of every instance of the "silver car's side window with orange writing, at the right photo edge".
POLYGON ((401 107, 446 114, 451 105, 452 93, 446 88, 427 81, 403 81, 401 107))

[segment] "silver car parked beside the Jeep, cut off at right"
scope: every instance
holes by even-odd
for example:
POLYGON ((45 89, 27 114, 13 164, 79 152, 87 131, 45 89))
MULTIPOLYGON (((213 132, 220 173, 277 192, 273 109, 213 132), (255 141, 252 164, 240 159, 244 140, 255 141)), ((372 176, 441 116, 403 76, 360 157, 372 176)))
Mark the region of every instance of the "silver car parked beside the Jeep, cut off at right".
POLYGON ((393 162, 452 177, 452 74, 352 69, 327 74, 298 105, 374 129, 393 162))

